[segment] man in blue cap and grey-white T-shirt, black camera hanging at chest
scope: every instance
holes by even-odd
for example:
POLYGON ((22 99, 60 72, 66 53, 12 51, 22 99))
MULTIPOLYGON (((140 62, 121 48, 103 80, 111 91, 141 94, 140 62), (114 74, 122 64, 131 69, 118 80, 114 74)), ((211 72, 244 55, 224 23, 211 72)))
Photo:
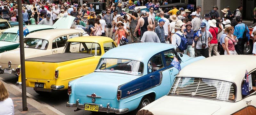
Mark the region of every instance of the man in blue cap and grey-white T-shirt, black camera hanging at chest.
POLYGON ((201 31, 196 32, 195 41, 197 41, 196 44, 196 53, 197 56, 204 56, 209 57, 209 48, 210 41, 212 40, 212 34, 211 32, 207 31, 206 24, 203 22, 200 25, 201 31))

